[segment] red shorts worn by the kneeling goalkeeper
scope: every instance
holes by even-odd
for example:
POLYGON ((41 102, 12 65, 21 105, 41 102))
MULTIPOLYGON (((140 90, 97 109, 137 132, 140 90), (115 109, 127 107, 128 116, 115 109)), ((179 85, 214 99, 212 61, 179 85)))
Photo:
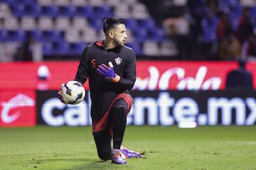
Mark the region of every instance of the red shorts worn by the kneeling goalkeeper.
MULTIPOLYGON (((129 111, 132 108, 133 99, 129 94, 125 94, 125 93, 119 94, 110 103, 110 107, 107 109, 107 112, 105 113, 105 115, 103 115, 103 117, 98 121, 92 121, 92 133, 105 130, 107 126, 107 118, 110 115, 110 111, 114 106, 115 101, 117 101, 119 98, 123 98, 124 101, 127 103, 127 115, 128 115, 129 111)), ((112 128, 110 129, 110 134, 112 135, 112 128)))

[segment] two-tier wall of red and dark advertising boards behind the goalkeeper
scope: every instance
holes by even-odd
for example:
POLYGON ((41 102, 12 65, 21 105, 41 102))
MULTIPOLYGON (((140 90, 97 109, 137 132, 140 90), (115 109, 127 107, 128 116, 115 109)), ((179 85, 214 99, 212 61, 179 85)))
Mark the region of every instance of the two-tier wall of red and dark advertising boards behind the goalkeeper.
MULTIPOLYGON (((90 98, 77 106, 57 98, 60 84, 73 79, 78 62, 0 64, 0 126, 91 125, 90 98)), ((139 61, 129 125, 255 125, 255 91, 225 90, 236 62, 139 61)), ((247 63, 256 71, 256 64, 247 63)), ((254 86, 256 77, 253 74, 254 86)))

